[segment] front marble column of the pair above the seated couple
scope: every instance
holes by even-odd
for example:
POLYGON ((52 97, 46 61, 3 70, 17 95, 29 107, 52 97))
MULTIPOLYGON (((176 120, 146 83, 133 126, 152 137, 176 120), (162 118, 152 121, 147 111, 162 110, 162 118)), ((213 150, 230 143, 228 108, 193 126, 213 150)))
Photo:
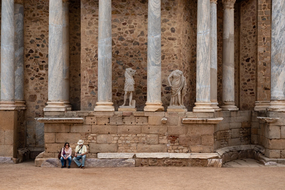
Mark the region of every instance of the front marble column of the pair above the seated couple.
POLYGON ((50 0, 48 32, 48 102, 44 111, 66 111, 62 98, 62 0, 50 0))

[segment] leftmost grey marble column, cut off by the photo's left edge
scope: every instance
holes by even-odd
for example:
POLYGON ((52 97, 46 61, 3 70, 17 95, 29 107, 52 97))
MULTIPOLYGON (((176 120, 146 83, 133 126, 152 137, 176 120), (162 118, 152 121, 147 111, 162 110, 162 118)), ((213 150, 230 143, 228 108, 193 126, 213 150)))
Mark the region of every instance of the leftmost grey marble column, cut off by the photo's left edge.
POLYGON ((14 0, 2 0, 1 7, 1 110, 15 105, 15 26, 14 0))

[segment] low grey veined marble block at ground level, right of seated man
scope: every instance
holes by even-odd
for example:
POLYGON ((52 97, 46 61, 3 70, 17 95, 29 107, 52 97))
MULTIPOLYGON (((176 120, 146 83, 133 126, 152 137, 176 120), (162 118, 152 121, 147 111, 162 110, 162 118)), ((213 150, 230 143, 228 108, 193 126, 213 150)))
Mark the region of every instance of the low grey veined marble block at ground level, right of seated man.
POLYGON ((86 167, 135 167, 135 159, 96 159, 87 158, 86 167))

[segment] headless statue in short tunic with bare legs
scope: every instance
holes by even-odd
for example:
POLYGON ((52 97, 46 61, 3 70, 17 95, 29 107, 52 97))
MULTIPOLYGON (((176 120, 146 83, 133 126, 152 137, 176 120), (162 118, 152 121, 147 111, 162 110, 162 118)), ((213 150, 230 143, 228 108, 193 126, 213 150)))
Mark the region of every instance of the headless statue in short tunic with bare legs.
POLYGON ((127 102, 127 94, 130 93, 130 103, 129 106, 133 106, 131 105, 132 103, 132 99, 133 99, 133 92, 135 91, 135 79, 134 79, 134 75, 137 71, 133 70, 132 68, 127 68, 125 71, 125 95, 124 95, 124 104, 122 106, 125 106, 126 102, 127 102))

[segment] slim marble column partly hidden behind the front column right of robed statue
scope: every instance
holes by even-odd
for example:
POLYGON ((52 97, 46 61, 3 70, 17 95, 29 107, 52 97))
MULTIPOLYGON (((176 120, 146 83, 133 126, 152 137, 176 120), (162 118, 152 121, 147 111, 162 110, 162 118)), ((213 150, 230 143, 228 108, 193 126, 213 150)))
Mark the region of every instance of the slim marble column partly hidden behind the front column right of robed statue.
POLYGON ((217 100, 217 0, 210 1, 210 64, 211 107, 221 111, 217 100))

